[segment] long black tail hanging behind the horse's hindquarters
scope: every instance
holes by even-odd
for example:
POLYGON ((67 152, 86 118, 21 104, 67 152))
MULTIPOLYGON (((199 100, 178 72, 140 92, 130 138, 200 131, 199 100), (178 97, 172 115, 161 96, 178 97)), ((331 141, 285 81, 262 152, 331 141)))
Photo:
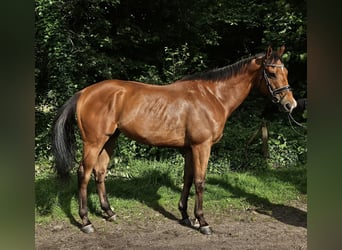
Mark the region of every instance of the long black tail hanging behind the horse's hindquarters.
POLYGON ((75 112, 79 93, 71 97, 58 111, 52 127, 52 153, 57 175, 65 178, 75 163, 75 112))

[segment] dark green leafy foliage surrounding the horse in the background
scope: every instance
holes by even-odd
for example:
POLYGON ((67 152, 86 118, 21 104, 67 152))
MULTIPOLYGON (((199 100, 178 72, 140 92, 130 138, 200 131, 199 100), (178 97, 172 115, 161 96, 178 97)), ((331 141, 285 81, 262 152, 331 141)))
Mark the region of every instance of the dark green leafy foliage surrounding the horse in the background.
MULTIPOLYGON (((269 44, 285 44, 290 84, 297 98, 306 96, 305 1, 37 0, 35 4, 39 173, 51 165, 50 128, 57 108, 76 91, 103 79, 165 84, 263 52, 269 44)), ((262 157, 260 138, 246 148, 260 126, 264 107, 263 99, 252 96, 235 111, 224 137, 213 147, 209 171, 306 162, 306 135, 298 136, 277 111, 269 119, 270 159, 262 157)), ((177 150, 120 137, 111 166, 128 173, 134 159, 141 158, 183 164, 177 150)))

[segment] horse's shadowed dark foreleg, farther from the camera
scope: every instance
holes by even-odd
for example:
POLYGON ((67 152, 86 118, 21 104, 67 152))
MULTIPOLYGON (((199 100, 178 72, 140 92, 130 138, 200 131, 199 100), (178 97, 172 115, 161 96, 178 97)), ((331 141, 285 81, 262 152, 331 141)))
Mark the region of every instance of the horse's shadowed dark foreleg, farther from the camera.
POLYGON ((193 178, 194 178, 191 150, 186 151, 184 160, 185 160, 185 165, 184 165, 184 176, 183 176, 183 191, 182 191, 182 195, 179 200, 179 203, 178 203, 178 209, 182 214, 181 223, 186 226, 192 226, 192 222, 190 221, 189 215, 187 212, 189 192, 190 192, 190 188, 191 188, 193 178))

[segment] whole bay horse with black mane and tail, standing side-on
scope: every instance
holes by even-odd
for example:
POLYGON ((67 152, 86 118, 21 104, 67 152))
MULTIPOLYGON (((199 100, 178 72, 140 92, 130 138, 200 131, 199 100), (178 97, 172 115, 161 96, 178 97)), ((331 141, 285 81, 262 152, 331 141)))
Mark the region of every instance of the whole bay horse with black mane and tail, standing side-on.
POLYGON ((291 113, 297 105, 281 60, 284 50, 285 46, 278 50, 268 47, 266 53, 167 85, 105 80, 72 96, 54 120, 52 148, 57 174, 68 175, 74 165, 77 121, 83 141, 78 168, 81 230, 95 230, 87 208, 87 186, 92 173, 101 208, 108 220, 116 217, 106 195, 105 176, 115 140, 123 133, 140 143, 185 150, 184 185, 178 203, 181 223, 193 226, 187 206, 194 184, 194 215, 199 231, 211 234, 202 206, 206 170, 211 147, 222 137, 228 117, 252 88, 268 95, 285 112, 291 113))

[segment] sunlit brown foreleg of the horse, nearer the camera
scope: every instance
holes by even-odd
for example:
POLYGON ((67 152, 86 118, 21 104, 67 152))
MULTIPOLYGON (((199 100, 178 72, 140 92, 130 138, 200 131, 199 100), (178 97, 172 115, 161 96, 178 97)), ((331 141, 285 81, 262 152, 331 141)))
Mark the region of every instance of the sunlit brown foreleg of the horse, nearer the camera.
POLYGON ((211 234, 209 224, 204 219, 203 213, 203 192, 205 184, 205 176, 210 156, 211 143, 205 142, 192 147, 194 162, 194 184, 195 184, 195 217, 200 224, 200 232, 203 234, 211 234))

